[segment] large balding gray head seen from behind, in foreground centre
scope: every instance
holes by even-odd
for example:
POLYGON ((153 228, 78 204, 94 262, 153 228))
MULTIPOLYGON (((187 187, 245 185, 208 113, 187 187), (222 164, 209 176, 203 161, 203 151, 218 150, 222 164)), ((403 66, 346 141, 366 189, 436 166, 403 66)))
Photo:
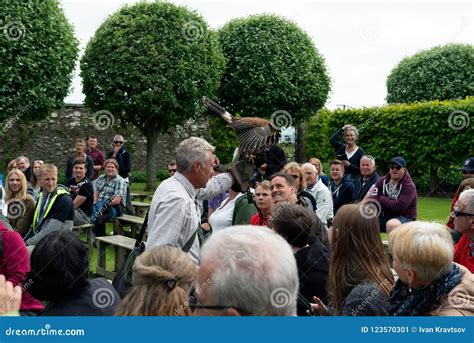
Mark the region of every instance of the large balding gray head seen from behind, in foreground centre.
POLYGON ((190 307, 199 316, 295 316, 298 288, 293 251, 280 235, 233 226, 204 244, 190 307))

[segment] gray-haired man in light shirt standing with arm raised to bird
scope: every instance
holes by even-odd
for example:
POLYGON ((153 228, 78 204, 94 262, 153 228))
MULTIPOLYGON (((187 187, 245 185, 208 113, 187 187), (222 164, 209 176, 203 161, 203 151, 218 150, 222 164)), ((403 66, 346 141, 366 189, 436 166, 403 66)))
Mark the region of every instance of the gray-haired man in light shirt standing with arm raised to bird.
POLYGON ((156 189, 148 216, 146 249, 173 245, 199 262, 199 201, 227 191, 234 182, 230 173, 211 178, 214 147, 202 138, 182 141, 176 150, 176 173, 156 189), (209 181, 209 182, 208 182, 209 181))

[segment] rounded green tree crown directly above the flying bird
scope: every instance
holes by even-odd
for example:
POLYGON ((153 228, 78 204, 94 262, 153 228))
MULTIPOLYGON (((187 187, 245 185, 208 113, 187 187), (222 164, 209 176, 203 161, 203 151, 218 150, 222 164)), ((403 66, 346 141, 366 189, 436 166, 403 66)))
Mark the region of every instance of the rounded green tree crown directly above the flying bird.
POLYGON ((326 102, 324 58, 295 23, 275 15, 234 19, 219 41, 228 60, 219 98, 232 113, 269 118, 284 110, 298 124, 326 102))

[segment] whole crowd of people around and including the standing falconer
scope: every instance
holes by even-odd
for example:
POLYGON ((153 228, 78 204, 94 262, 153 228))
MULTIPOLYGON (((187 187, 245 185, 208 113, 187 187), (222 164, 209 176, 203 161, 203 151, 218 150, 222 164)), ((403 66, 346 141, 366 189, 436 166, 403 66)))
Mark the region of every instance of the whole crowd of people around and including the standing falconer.
POLYGON ((124 138, 116 135, 108 154, 96 137, 76 140, 65 185, 54 164, 31 167, 20 156, 0 189, 0 302, 11 297, 0 311, 474 315, 474 157, 463 164, 447 225, 422 222, 407 161, 394 156, 379 175, 358 136, 345 125, 330 137, 337 159, 328 176, 319 159, 288 163, 278 146, 244 175, 238 163, 220 164, 204 139, 182 141, 153 195, 146 248, 123 299, 107 280, 90 278, 87 247, 71 229, 93 224, 104 236, 106 222, 131 207, 124 138))

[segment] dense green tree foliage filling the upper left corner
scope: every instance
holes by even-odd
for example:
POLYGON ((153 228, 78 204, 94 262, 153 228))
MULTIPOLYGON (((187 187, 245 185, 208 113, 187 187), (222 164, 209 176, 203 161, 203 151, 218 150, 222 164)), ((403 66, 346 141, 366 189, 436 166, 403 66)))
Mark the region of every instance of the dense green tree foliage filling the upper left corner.
POLYGON ((1 1, 0 120, 42 119, 68 94, 78 41, 57 0, 1 1))

